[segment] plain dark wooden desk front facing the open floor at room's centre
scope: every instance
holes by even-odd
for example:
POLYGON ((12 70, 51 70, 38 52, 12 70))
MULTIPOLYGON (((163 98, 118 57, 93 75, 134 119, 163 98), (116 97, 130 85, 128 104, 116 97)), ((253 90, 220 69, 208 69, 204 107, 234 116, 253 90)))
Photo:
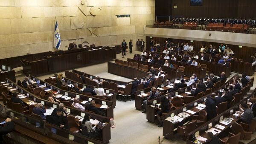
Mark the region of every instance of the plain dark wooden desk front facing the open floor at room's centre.
POLYGON ((134 77, 137 77, 139 79, 148 76, 148 72, 146 71, 142 71, 138 68, 128 67, 125 65, 115 64, 113 62, 108 62, 108 72, 129 79, 134 79, 134 77))

